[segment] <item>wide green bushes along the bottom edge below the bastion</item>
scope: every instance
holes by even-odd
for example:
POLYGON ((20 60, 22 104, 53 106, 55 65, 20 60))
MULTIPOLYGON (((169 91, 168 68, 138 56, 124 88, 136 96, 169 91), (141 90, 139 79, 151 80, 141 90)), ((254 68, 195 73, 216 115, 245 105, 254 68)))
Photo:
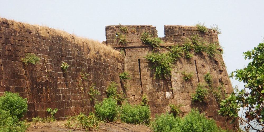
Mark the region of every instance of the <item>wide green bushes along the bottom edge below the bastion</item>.
POLYGON ((151 122, 151 128, 154 132, 164 131, 198 131, 198 132, 224 132, 228 130, 223 130, 218 128, 215 120, 207 119, 204 114, 200 114, 196 109, 192 109, 189 114, 184 116, 182 119, 180 117, 175 117, 172 114, 161 114, 156 115, 156 119, 151 122))

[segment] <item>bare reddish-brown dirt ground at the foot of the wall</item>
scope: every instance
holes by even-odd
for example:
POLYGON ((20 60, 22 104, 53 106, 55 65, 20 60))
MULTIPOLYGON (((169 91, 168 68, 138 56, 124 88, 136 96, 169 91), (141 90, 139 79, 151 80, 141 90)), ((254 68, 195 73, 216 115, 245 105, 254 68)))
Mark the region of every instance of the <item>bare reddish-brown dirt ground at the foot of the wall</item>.
MULTIPOLYGON (((81 132, 85 131, 79 128, 66 128, 65 123, 67 121, 56 121, 56 122, 38 122, 37 124, 32 124, 27 129, 27 132, 81 132)), ((144 125, 133 125, 133 124, 126 124, 122 122, 106 122, 106 123, 100 123, 100 128, 97 131, 106 131, 106 132, 150 132, 151 129, 144 125)))

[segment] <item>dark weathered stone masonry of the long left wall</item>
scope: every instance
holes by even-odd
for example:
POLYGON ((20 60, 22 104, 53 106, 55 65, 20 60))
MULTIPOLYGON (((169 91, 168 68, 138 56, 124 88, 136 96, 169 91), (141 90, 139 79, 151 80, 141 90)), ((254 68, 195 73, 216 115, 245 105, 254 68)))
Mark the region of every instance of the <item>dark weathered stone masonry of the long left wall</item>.
POLYGON ((28 119, 46 117, 48 107, 58 108, 57 119, 88 113, 94 109, 87 93, 89 86, 96 83, 102 95, 97 97, 99 100, 105 97, 105 88, 111 81, 120 87, 118 76, 123 71, 120 56, 93 51, 87 44, 89 41, 76 44, 78 38, 66 36, 56 35, 56 31, 49 28, 6 19, 0 21, 0 93, 19 92, 27 98, 28 119), (44 33, 47 36, 41 35, 44 33), (26 53, 39 56, 40 64, 21 62, 26 53), (70 65, 65 73, 60 67, 62 62, 70 65), (82 79, 81 73, 88 73, 88 79, 82 79))

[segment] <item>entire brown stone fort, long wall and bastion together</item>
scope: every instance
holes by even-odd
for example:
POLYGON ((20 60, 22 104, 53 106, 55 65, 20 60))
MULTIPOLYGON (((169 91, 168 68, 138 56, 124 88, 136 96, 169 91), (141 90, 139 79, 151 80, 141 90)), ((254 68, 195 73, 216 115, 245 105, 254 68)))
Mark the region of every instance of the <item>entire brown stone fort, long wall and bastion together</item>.
POLYGON ((192 103, 191 100, 191 94, 195 93, 198 83, 205 82, 203 76, 208 72, 214 88, 223 86, 220 93, 223 98, 233 92, 221 54, 212 57, 202 52, 194 53, 192 58, 179 58, 173 63, 171 76, 161 79, 154 78, 154 70, 150 70, 153 64, 145 59, 152 50, 166 52, 166 47, 181 46, 193 34, 199 34, 208 43, 218 42, 216 32, 208 29, 202 33, 196 26, 165 25, 165 36, 160 38, 164 43, 156 49, 140 39, 144 32, 158 37, 156 27, 151 25, 106 26, 105 30, 106 41, 100 43, 64 31, 0 18, 0 95, 11 91, 27 98, 27 119, 46 117, 45 110, 49 107, 58 108, 55 117, 64 120, 67 115, 94 110, 95 102, 87 92, 89 86, 95 84, 101 93, 96 98, 102 101, 106 87, 116 82, 118 90, 125 93, 131 104, 139 104, 145 93, 152 117, 170 111, 172 103, 181 105, 181 116, 197 107, 208 118, 216 120, 218 126, 233 129, 230 120, 218 115, 220 107, 213 89, 209 89, 207 102, 192 103), (125 44, 116 39, 121 27, 127 28, 125 44), (40 57, 40 63, 23 63, 21 58, 27 53, 40 57), (66 72, 61 69, 62 62, 69 64, 66 72), (126 88, 119 78, 124 71, 131 74, 126 88), (194 73, 190 81, 182 79, 183 71, 194 73), (86 79, 82 78, 83 73, 89 74, 86 79))

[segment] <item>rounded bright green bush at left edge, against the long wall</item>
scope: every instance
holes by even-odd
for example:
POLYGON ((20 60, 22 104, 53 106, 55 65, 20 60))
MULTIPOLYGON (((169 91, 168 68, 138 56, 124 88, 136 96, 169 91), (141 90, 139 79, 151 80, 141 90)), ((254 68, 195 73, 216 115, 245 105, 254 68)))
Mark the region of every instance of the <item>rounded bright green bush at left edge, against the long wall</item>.
POLYGON ((19 97, 18 93, 4 92, 0 97, 0 109, 20 119, 27 112, 27 98, 19 97))

